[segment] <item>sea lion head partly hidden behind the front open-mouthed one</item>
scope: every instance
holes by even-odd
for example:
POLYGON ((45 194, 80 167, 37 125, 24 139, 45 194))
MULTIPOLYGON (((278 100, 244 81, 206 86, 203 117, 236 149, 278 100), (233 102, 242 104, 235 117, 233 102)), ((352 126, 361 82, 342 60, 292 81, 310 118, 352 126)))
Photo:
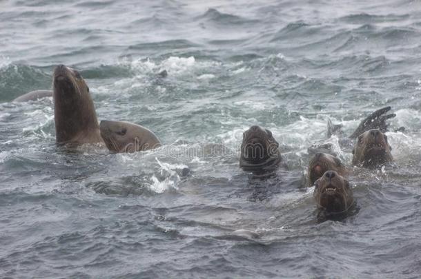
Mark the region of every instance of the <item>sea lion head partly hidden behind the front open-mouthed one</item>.
POLYGON ((345 166, 339 158, 326 153, 316 153, 310 158, 309 162, 309 184, 313 185, 315 180, 323 176, 329 170, 333 170, 340 175, 346 172, 345 166))

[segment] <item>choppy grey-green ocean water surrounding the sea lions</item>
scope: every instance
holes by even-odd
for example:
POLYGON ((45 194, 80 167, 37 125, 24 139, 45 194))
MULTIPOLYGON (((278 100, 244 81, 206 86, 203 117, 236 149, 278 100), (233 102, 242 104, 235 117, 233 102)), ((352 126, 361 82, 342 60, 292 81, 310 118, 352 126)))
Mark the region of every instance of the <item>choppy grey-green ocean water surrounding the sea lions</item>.
POLYGON ((0 22, 1 278, 420 278, 421 1, 0 1, 0 22), (164 146, 57 147, 52 99, 11 101, 61 63, 164 146), (307 148, 386 105, 395 165, 317 223, 307 148), (251 125, 288 171, 239 169, 251 125))

